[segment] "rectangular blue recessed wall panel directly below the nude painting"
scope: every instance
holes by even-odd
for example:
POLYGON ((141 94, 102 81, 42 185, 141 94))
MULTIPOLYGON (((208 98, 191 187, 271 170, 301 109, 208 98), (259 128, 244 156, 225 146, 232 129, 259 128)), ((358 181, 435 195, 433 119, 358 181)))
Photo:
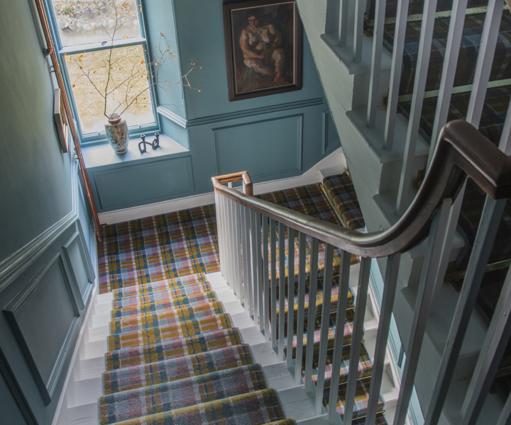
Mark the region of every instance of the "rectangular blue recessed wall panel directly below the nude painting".
POLYGON ((218 174, 248 171, 253 181, 302 170, 302 115, 213 130, 218 174))

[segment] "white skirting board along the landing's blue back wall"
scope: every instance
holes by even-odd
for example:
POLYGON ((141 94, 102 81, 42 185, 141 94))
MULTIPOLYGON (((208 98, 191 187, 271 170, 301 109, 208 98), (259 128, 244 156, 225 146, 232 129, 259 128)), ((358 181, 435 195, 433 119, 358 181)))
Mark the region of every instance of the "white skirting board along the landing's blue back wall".
MULTIPOLYGON (((329 154, 307 170, 302 176, 290 177, 288 179, 280 179, 273 181, 265 181, 264 183, 255 183, 253 190, 255 195, 273 191, 283 191, 285 189, 305 186, 307 184, 318 183, 323 181, 324 176, 332 174, 341 174, 346 166, 346 158, 341 147, 329 154), (329 171, 325 173, 325 171, 329 171)), ((129 220, 138 220, 139 218, 149 217, 151 215, 166 214, 186 210, 187 208, 200 207, 214 203, 214 192, 202 193, 201 195, 187 196, 186 198, 178 198, 172 200, 164 200, 163 202, 152 203, 149 205, 141 205, 139 207, 124 208, 111 212, 101 212, 98 214, 99 222, 102 225, 114 225, 116 223, 129 220)))

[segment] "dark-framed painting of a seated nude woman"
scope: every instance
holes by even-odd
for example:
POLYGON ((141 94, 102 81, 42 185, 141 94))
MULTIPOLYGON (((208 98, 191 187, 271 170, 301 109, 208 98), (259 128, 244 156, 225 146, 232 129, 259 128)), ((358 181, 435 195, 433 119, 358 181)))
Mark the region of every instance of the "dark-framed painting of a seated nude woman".
POLYGON ((229 101, 302 89, 302 21, 292 0, 224 3, 229 101))

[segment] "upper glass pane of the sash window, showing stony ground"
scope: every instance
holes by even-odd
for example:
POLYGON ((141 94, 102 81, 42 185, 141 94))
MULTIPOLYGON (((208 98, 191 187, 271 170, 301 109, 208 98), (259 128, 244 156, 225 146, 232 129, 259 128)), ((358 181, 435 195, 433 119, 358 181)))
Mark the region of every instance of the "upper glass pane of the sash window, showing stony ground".
POLYGON ((52 0, 63 46, 140 37, 135 0, 52 0))

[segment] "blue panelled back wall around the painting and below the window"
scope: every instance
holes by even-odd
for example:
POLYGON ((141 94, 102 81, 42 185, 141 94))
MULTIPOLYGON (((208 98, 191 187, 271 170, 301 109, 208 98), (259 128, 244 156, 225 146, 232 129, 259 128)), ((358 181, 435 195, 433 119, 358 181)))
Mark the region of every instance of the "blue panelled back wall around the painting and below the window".
MULTIPOLYGON (((182 191, 164 187, 166 180, 155 181, 145 198, 135 199, 127 185, 116 188, 121 191, 119 202, 111 203, 108 191, 101 189, 105 172, 111 179, 130 176, 131 181, 143 181, 148 179, 147 170, 133 162, 92 166, 89 173, 99 212, 209 193, 211 176, 235 171, 247 170, 255 183, 298 176, 324 157, 325 145, 326 154, 339 147, 334 126, 327 125, 328 108, 305 35, 302 90, 229 102, 222 1, 146 1, 145 18, 149 41, 158 42, 161 32, 170 50, 178 51, 170 79, 188 72, 192 62, 203 67, 189 75, 200 92, 170 85, 158 94, 163 107, 177 115, 174 120, 160 115, 163 131, 187 149, 177 157, 187 158, 191 172, 187 169, 173 179, 182 191)), ((130 149, 137 149, 136 144, 130 149)), ((169 160, 176 157, 155 152, 145 156, 155 167, 158 162, 170 167, 169 160)))

